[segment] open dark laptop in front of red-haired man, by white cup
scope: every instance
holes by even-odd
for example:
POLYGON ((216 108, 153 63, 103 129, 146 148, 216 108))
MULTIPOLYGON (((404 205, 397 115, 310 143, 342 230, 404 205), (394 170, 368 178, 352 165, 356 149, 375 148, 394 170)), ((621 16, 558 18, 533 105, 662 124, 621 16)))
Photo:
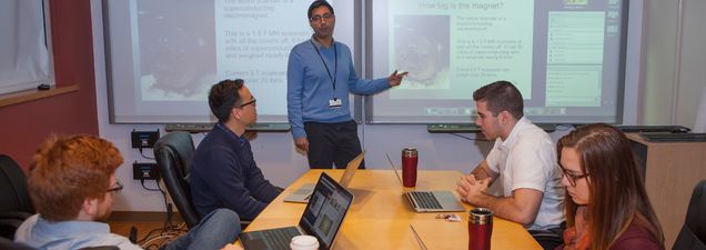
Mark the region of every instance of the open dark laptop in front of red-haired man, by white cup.
POLYGON ((309 234, 319 239, 319 249, 329 250, 333 247, 351 203, 353 193, 329 174, 321 173, 311 202, 306 204, 297 227, 243 232, 240 234, 240 242, 245 250, 289 250, 293 237, 309 234))

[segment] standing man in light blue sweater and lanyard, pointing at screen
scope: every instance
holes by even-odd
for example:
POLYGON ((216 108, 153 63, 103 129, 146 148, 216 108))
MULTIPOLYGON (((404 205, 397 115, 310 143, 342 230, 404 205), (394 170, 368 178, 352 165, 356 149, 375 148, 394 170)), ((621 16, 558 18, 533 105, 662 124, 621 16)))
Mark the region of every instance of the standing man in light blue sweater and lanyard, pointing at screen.
MULTIPOLYGON (((296 148, 311 168, 343 168, 361 150, 357 124, 351 117, 349 93, 373 94, 399 86, 406 72, 387 78, 359 79, 351 50, 333 40, 333 7, 316 0, 309 7, 310 40, 290 53, 286 108, 296 148)), ((365 168, 361 163, 361 168, 365 168)))

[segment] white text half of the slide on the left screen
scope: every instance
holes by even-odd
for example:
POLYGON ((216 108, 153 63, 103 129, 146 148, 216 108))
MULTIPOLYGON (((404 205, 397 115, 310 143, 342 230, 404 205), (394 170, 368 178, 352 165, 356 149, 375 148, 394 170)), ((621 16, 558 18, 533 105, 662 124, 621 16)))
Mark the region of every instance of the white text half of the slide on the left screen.
MULTIPOLYGON (((216 1, 219 76, 248 79, 258 90, 259 102, 282 103, 290 50, 312 34, 305 19, 307 8, 307 1, 293 0, 216 1)), ((258 106, 258 111, 286 113, 286 107, 258 106)))

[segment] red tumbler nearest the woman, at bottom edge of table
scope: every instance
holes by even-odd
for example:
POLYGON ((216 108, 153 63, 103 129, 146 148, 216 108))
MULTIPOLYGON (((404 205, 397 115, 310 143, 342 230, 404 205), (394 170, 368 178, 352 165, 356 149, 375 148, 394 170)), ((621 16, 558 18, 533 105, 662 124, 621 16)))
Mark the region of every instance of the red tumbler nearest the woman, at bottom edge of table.
POLYGON ((491 250, 493 211, 474 208, 468 212, 468 250, 491 250))

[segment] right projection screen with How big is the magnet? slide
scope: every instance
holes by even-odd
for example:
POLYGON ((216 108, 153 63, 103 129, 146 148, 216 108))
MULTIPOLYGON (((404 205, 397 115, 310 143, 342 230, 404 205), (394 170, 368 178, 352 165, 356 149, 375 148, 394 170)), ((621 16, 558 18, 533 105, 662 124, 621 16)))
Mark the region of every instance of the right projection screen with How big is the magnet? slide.
MULTIPOLYGON (((373 76, 409 71, 372 97, 375 122, 473 122, 473 91, 513 82, 539 122, 614 122, 623 2, 372 1, 373 76)), ((370 102, 369 102, 370 103, 370 102)))

